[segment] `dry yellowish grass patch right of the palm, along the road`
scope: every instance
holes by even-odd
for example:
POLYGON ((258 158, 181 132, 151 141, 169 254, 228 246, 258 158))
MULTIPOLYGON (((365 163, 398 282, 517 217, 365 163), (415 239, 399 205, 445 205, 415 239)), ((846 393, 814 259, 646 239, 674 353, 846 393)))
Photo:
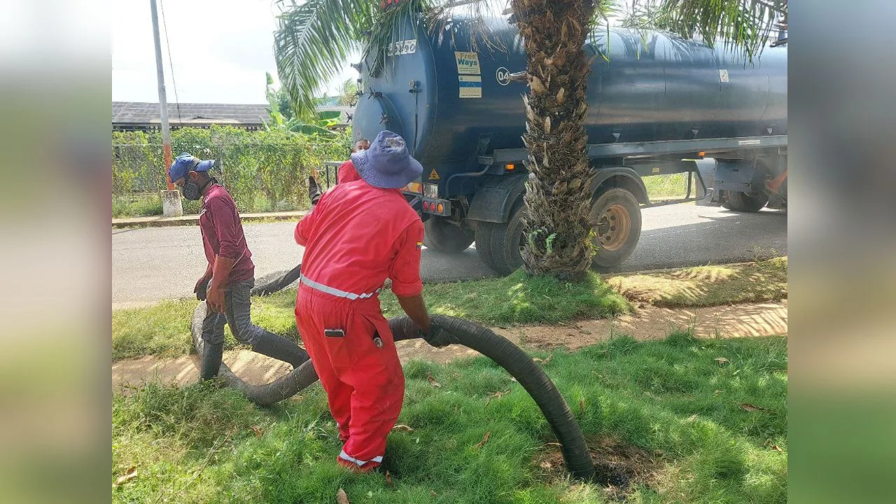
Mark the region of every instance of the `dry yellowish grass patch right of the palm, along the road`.
POLYGON ((703 307, 782 300, 788 296, 787 257, 743 265, 698 266, 607 279, 634 302, 663 307, 703 307))

